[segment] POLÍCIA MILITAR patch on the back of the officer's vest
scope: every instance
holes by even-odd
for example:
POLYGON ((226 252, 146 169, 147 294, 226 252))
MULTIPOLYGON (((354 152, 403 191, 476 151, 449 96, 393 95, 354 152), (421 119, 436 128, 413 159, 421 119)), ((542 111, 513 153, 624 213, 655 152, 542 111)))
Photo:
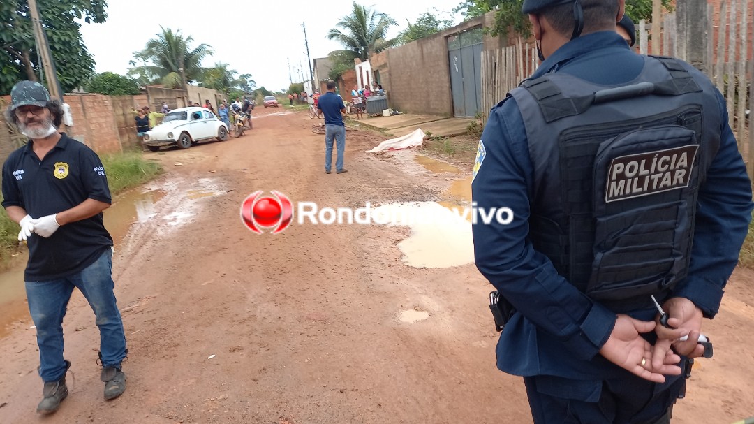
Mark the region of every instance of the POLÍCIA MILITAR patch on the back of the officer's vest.
POLYGON ((614 158, 608 170, 605 203, 688 187, 698 149, 699 145, 693 144, 614 158))

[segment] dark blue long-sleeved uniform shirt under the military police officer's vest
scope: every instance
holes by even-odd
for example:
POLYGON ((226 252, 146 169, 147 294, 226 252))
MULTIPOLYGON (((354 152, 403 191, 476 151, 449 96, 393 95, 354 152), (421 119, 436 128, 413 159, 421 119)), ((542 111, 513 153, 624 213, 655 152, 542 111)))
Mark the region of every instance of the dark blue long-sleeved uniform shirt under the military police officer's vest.
MULTIPOLYGON (((628 83, 639 75, 644 60, 615 32, 594 32, 563 45, 532 78, 567 72, 599 84, 628 83)), ((722 141, 700 187, 688 277, 673 290, 673 296, 688 298, 710 318, 737 263, 752 210, 746 167, 728 127, 725 100, 717 95, 722 141)), ((615 313, 558 275, 527 238, 530 199, 537 195, 533 181, 523 118, 509 97, 489 113, 471 185, 477 208, 510 207, 514 216, 508 225, 493 220, 473 226, 477 268, 518 311, 501 333, 498 368, 520 376, 584 380, 625 375, 599 355, 615 313)), ((647 321, 655 314, 655 309, 630 313, 647 321)))

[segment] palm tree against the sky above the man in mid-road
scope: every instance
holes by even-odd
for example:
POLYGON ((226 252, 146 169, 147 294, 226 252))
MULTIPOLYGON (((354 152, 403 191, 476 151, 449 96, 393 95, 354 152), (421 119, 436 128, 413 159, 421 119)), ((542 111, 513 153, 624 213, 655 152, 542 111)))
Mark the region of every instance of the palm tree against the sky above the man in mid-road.
POLYGON ((397 44, 397 38, 385 39, 388 29, 397 25, 396 21, 371 8, 357 5, 351 14, 342 17, 338 26, 344 29, 330 29, 329 40, 339 41, 346 50, 353 51, 361 60, 368 60, 370 53, 379 53, 397 44))

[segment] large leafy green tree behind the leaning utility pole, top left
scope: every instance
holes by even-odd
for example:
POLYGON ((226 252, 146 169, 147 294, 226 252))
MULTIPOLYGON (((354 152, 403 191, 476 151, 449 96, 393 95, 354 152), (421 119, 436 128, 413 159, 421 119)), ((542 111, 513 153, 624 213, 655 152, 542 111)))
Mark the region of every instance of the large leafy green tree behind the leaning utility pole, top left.
MULTIPOLYGON (((37 9, 48 45, 56 63, 63 91, 71 91, 89 80, 94 60, 81 38, 76 20, 103 23, 105 0, 38 0, 37 9)), ((9 94, 18 81, 38 80, 41 63, 26 0, 0 2, 0 94, 9 94)))

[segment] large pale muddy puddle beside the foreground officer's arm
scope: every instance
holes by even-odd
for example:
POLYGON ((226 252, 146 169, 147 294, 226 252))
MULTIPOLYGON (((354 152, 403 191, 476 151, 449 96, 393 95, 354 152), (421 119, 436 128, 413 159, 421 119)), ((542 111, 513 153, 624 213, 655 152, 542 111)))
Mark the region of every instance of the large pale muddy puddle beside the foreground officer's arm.
POLYGON ((451 210, 434 201, 385 204, 375 214, 388 217, 394 225, 411 228, 398 244, 403 263, 415 268, 446 268, 474 262, 471 224, 462 210, 451 210))

